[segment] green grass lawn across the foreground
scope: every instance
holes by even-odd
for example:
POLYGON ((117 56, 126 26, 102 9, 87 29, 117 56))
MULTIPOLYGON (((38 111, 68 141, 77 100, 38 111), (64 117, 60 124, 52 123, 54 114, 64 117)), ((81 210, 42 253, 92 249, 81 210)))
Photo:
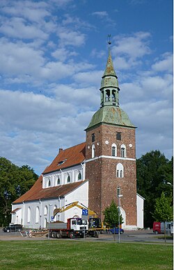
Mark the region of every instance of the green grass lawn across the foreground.
POLYGON ((1 241, 0 269, 173 269, 173 246, 65 240, 1 241))

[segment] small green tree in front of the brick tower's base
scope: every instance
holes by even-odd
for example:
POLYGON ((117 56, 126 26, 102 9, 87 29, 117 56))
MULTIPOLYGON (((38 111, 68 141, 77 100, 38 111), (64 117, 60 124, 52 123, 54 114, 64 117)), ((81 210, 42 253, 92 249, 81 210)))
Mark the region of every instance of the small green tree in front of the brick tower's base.
MULTIPOLYGON (((104 225, 107 228, 113 228, 113 227, 118 227, 118 207, 115 203, 115 201, 111 201, 111 205, 105 208, 103 211, 104 214, 104 225)), ((120 214, 120 224, 123 223, 122 215, 120 214)))

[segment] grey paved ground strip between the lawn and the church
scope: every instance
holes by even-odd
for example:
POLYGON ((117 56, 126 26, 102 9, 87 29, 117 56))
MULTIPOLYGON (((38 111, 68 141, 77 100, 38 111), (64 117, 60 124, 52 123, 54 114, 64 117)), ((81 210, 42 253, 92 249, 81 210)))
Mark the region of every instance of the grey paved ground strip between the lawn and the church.
MULTIPOLYGON (((120 242, 139 242, 139 243, 164 243, 164 239, 162 239, 164 235, 155 235, 152 230, 134 230, 134 231, 125 231, 122 235, 120 235, 120 242), (161 238, 161 239, 160 239, 161 238)), ((65 238, 64 238, 65 239, 65 238)), ((0 241, 13 241, 13 240, 47 240, 47 237, 44 235, 42 237, 25 237, 19 233, 3 233, 3 230, 0 228, 0 241)), ((50 241, 60 241, 61 239, 52 239, 50 241)), ((73 239, 68 239, 73 241, 73 239)), ((77 240, 77 238, 75 239, 77 240)), ((106 241, 118 242, 118 235, 109 235, 107 233, 100 234, 98 238, 87 237, 86 239, 78 239, 79 241, 106 241)), ((173 244, 173 239, 167 239, 167 244, 173 244)))

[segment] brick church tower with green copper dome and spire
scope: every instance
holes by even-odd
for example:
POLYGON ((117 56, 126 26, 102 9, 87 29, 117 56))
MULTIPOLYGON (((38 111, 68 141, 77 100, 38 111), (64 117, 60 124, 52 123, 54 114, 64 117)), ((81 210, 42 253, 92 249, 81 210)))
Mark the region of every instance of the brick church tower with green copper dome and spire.
POLYGON ((118 205, 123 228, 136 228, 136 142, 135 126, 119 106, 118 77, 111 53, 100 87, 101 107, 86 128, 86 179, 89 180, 88 205, 103 219, 102 212, 118 205))

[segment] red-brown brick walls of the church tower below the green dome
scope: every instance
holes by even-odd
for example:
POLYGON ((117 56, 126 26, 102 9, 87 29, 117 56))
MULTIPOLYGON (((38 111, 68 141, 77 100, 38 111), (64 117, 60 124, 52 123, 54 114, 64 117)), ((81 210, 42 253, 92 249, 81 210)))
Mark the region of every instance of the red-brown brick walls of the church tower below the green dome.
POLYGON ((101 155, 111 157, 111 145, 117 145, 117 157, 120 158, 120 146, 125 144, 128 159, 136 157, 135 129, 101 124, 86 132, 86 178, 89 179, 89 208, 100 214, 114 199, 118 205, 117 187, 121 187, 120 207, 126 213, 126 225, 136 226, 136 161, 113 158, 97 158, 101 155), (95 142, 92 134, 95 133, 95 142), (121 133, 121 140, 116 140, 121 133), (95 158, 92 157, 92 145, 95 144, 95 158), (116 165, 124 167, 124 177, 116 177, 116 165))

